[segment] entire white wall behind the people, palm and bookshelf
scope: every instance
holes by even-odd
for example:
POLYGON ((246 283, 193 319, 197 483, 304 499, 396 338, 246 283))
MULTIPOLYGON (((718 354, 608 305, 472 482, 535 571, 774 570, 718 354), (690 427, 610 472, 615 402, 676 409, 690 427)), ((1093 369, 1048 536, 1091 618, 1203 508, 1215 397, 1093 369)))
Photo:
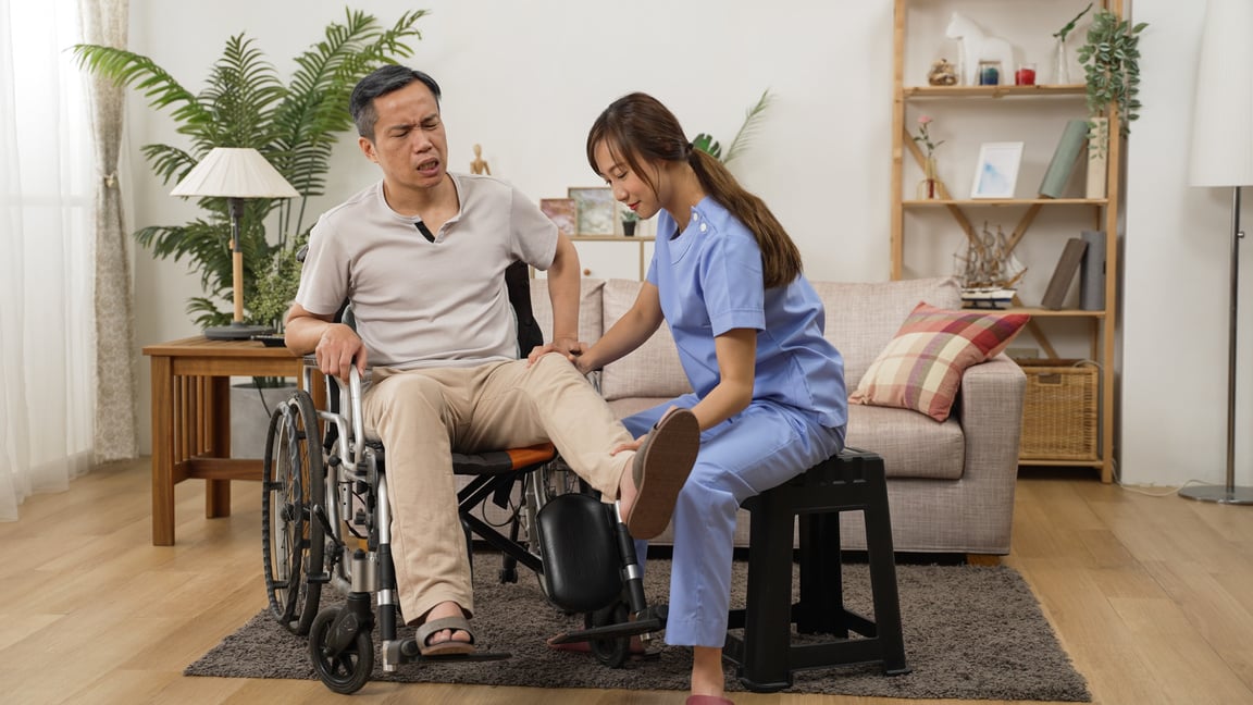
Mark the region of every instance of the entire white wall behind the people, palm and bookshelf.
MULTIPOLYGON (((1073 4, 1074 10, 1064 3, 1040 8, 1022 1, 1041 13, 1044 36, 1085 3, 1073 4)), ((965 0, 960 5, 975 18, 987 8, 965 0)), ((744 109, 771 88, 776 102, 753 149, 737 163, 737 174, 789 227, 811 277, 887 278, 892 0, 375 0, 357 6, 385 21, 407 9, 431 10, 420 20, 424 39, 413 44, 416 54, 407 63, 430 72, 445 89, 452 167, 469 168, 471 146, 480 143, 492 173, 536 199, 564 196, 568 186, 596 184, 583 156, 586 129, 623 93, 653 93, 689 133, 712 132, 725 143, 744 109)), ((338 0, 132 0, 132 49, 199 90, 226 36, 247 31, 286 75, 291 58, 342 13, 338 0)), ((1183 181, 1202 14, 1203 4, 1135 3, 1136 19, 1153 28, 1141 41, 1145 109, 1129 151, 1123 310, 1128 352, 1120 403, 1128 482, 1219 482, 1225 468, 1229 193, 1189 188, 1183 181), (1184 321, 1188 329, 1180 331, 1184 321)), ((1012 26, 1021 31, 1020 23, 1012 26)), ((1029 58, 1048 80, 1048 55, 1034 54, 1046 41, 1022 44, 1020 51, 1032 53, 1029 58)), ((194 207, 167 196, 168 187, 150 177, 138 152, 148 142, 178 143, 169 119, 134 94, 128 119, 132 225, 185 221, 194 207)), ((947 162, 941 162, 941 176, 965 186, 971 146, 997 125, 941 127, 952 138, 941 147, 947 162)), ((1042 139, 1042 148, 1029 144, 1020 184, 1042 173, 1054 135, 1042 139)), ((351 139, 336 159, 331 196, 315 209, 377 177, 351 139)), ((947 246, 935 248, 937 273, 947 271, 950 253, 947 246)), ((1030 286, 1042 290, 1051 265, 1035 270, 1030 276, 1039 281, 1030 286)), ((183 305, 199 294, 199 285, 180 266, 138 252, 135 290, 140 346, 198 332, 183 305)), ((1244 321, 1242 329, 1250 325, 1244 321)), ((140 418, 148 418, 147 374, 142 386, 140 418)), ((1248 396, 1242 394, 1237 414, 1245 428, 1248 396)), ((144 447, 148 432, 142 429, 144 447)), ((1242 459, 1247 454, 1242 448, 1242 459)), ((1249 483, 1247 470, 1240 480, 1249 483)))

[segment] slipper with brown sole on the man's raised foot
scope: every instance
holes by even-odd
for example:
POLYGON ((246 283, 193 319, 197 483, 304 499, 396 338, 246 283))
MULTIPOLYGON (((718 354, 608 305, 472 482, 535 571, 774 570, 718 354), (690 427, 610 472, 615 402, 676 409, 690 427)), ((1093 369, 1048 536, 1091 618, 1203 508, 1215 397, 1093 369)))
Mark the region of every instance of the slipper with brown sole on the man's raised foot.
POLYGON ((626 514, 635 538, 655 538, 670 523, 674 503, 700 450, 700 423, 687 409, 672 409, 635 452, 632 477, 639 494, 626 514))

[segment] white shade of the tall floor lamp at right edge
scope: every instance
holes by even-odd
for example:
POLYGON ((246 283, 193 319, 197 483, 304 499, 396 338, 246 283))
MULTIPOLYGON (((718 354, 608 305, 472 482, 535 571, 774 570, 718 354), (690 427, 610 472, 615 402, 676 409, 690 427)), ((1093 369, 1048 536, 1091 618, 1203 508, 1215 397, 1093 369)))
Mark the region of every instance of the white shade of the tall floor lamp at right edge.
POLYGON ((1209 0, 1192 118, 1192 186, 1253 186, 1253 3, 1209 0))

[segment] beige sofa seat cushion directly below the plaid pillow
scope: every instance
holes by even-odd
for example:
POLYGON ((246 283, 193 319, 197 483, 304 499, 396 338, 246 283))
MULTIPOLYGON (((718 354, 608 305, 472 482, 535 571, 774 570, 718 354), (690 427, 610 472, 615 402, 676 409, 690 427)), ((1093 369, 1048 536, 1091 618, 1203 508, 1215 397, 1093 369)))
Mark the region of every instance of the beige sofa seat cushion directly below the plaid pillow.
POLYGON ((882 455, 890 478, 961 479, 966 464, 956 418, 937 424, 906 409, 850 405, 845 444, 882 455))

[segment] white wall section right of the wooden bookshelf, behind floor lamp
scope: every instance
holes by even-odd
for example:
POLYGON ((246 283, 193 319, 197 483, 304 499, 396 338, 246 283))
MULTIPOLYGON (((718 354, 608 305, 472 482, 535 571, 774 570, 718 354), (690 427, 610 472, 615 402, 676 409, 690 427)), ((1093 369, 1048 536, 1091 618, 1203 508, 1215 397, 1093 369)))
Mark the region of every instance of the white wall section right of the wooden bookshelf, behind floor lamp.
MULTIPOLYGON (((1135 20, 1150 28, 1140 41, 1145 109, 1128 152, 1121 470, 1129 483, 1225 482, 1232 191, 1187 184, 1204 9, 1205 3, 1135 0, 1135 20)), ((1253 223, 1250 198, 1245 193, 1244 223, 1253 223)), ((1248 250, 1245 242, 1234 415, 1235 480, 1245 487, 1253 484, 1248 250)))

